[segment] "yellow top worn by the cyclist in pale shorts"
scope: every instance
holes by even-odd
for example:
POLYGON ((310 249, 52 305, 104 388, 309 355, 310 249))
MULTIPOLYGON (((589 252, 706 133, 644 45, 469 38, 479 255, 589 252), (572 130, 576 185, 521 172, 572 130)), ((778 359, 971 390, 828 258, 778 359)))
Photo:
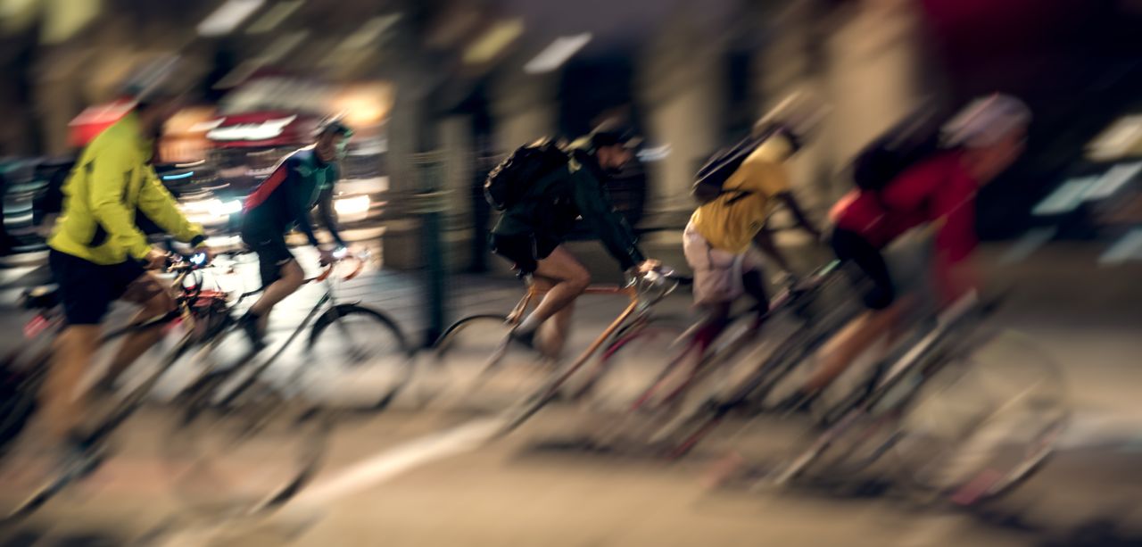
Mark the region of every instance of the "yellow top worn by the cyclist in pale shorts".
POLYGON ((690 224, 710 247, 735 255, 749 249, 765 224, 772 198, 789 191, 782 162, 791 152, 793 145, 785 137, 766 139, 725 180, 723 194, 694 211, 690 224), (741 196, 735 191, 748 193, 741 196))

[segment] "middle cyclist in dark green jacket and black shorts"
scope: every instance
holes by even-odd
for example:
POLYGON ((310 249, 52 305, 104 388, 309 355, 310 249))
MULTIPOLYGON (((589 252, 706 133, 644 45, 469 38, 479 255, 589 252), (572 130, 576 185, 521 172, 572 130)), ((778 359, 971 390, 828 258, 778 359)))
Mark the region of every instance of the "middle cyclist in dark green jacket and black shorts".
POLYGON ((633 158, 632 136, 604 123, 569 147, 565 167, 540 177, 509 207, 492 228, 492 251, 508 259, 521 275, 531 275, 547 292, 513 330, 512 339, 536 347, 536 332, 548 319, 553 329, 542 353, 558 355, 570 328, 574 299, 590 283, 587 268, 563 247, 582 217, 621 267, 649 266, 626 219, 611 204, 608 177, 633 158))

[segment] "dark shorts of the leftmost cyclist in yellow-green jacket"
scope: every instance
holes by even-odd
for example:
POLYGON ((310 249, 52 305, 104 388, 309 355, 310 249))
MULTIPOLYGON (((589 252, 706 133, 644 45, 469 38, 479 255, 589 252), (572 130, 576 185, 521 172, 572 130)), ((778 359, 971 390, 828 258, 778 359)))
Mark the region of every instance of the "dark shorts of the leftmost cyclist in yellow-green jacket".
POLYGON ((99 324, 112 301, 142 304, 162 291, 146 270, 131 259, 103 265, 51 249, 48 266, 59 284, 59 301, 67 324, 99 324))

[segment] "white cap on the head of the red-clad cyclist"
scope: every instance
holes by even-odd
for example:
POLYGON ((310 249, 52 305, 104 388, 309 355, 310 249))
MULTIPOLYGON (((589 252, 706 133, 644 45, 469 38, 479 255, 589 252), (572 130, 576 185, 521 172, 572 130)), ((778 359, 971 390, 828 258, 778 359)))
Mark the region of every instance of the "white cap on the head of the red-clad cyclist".
POLYGON ((943 126, 948 146, 981 148, 997 143, 1016 128, 1031 122, 1031 110, 1011 95, 994 94, 972 100, 943 126))

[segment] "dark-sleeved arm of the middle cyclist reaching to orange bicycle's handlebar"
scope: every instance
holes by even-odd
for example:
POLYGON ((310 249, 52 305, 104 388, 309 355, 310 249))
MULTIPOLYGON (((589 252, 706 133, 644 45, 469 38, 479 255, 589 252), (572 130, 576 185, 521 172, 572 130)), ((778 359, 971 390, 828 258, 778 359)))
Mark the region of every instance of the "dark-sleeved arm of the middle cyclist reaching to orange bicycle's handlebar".
POLYGON ((638 250, 634 231, 626 218, 611 206, 603 184, 585 166, 571 167, 571 194, 579 215, 595 230, 603 246, 622 266, 622 270, 646 259, 638 250))

